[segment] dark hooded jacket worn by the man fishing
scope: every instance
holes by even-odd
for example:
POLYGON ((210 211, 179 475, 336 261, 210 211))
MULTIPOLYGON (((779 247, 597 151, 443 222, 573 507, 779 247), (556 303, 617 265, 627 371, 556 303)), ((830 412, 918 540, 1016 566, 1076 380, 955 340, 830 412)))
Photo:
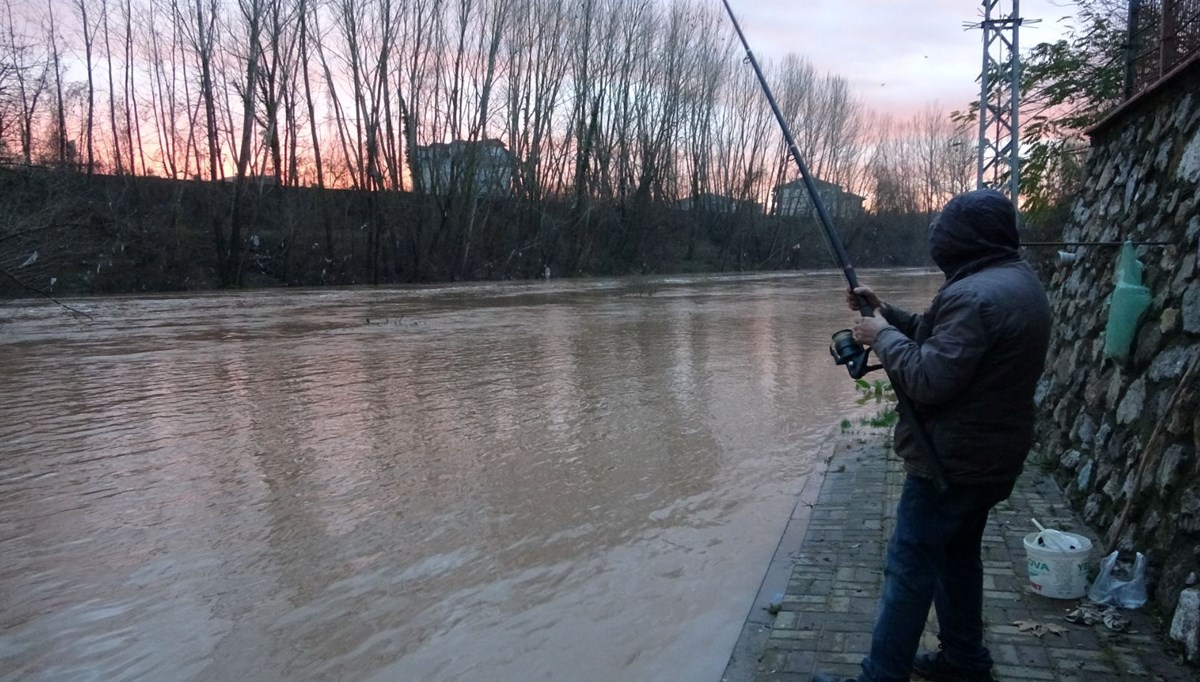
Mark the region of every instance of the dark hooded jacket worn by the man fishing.
POLYGON ((960 195, 929 227, 946 274, 928 311, 889 306, 874 349, 912 399, 895 449, 907 471, 931 477, 913 419, 932 439, 952 484, 1015 480, 1033 444, 1033 394, 1050 343, 1050 304, 1020 258, 1016 213, 994 190, 960 195))

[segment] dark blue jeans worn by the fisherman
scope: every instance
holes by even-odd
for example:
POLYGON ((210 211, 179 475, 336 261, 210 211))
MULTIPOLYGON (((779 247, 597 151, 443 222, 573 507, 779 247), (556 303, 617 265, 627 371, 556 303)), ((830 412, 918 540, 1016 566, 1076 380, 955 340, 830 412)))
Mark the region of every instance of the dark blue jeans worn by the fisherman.
POLYGON ((1012 492, 1013 481, 952 485, 938 492, 924 478, 905 480, 871 653, 863 659, 859 680, 908 680, 930 603, 937 609, 946 660, 968 670, 991 668, 983 646, 980 542, 988 513, 1012 492))

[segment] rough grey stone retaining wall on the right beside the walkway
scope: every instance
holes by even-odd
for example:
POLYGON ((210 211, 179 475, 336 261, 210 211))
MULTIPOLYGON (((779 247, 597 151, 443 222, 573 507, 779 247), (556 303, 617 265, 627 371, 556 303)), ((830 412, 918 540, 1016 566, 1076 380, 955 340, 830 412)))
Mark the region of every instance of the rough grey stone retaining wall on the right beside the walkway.
POLYGON ((1064 247, 1078 258, 1050 280, 1056 329, 1031 466, 1054 473, 1102 545, 1146 552, 1151 599, 1170 618, 1200 573, 1200 60, 1091 137, 1063 240, 1168 244, 1136 250, 1153 303, 1122 364, 1104 354, 1120 250, 1064 247))

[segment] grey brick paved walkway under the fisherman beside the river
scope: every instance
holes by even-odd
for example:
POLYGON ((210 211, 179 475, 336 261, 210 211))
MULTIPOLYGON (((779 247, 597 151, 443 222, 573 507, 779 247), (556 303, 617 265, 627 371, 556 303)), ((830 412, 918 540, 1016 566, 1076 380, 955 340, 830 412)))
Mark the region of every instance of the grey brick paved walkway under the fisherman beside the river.
MULTIPOLYGON (((882 433, 844 437, 830 448, 820 492, 808 496, 815 503, 802 496, 787 531, 799 549, 785 555, 791 576, 779 614, 773 622, 766 611, 751 614, 726 682, 808 682, 815 670, 858 675, 870 646, 883 555, 904 483, 900 463, 884 439, 882 433)), ((1103 626, 1067 622, 1064 615, 1078 600, 1030 592, 1024 537, 1033 530, 1031 518, 1046 527, 1087 536, 1093 546, 1100 546, 1058 489, 1033 467, 1018 481, 1013 496, 992 510, 984 536, 984 624, 997 680, 1200 680, 1200 671, 1166 652, 1145 610, 1122 611, 1130 628, 1114 633, 1103 626), (1018 621, 1060 626, 1064 632, 1038 638, 1021 632, 1014 624, 1018 621)), ((1093 561, 1099 560, 1099 551, 1093 550, 1093 561)), ((755 610, 761 611, 757 605, 755 610)), ((926 647, 936 648, 936 632, 931 612, 926 647)))

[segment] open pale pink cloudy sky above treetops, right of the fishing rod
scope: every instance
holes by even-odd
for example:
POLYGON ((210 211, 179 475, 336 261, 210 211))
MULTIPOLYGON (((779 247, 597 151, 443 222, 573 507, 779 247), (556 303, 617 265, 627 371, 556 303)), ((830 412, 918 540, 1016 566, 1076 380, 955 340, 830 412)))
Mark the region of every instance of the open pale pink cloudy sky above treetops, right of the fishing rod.
MULTIPOLYGON (((974 0, 730 0, 750 47, 761 61, 792 52, 821 72, 847 78, 854 92, 878 110, 919 112, 938 102, 949 112, 979 96, 983 31, 965 23, 983 19, 974 0)), ((1002 14, 1013 1, 1002 0, 1002 14)), ((1070 0, 1021 0, 1026 22, 1020 48, 1057 40, 1070 0)))

